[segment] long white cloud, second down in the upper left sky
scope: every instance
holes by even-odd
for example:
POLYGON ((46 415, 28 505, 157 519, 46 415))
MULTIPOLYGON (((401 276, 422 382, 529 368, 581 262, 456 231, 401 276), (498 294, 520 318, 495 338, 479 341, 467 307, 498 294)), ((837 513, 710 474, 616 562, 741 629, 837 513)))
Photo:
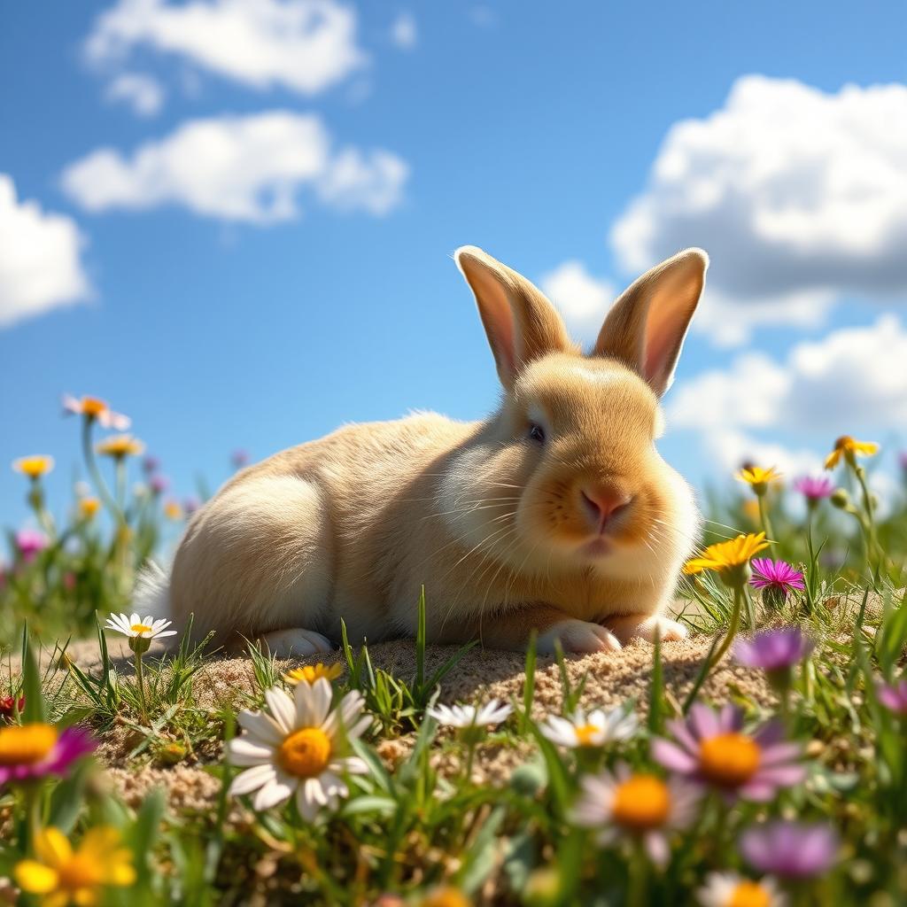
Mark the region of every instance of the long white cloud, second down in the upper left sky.
POLYGON ((389 151, 332 147, 312 114, 286 111, 192 120, 126 158, 102 148, 63 171, 83 208, 181 205, 207 217, 270 224, 297 219, 303 190, 328 207, 385 214, 400 201, 405 161, 389 151))

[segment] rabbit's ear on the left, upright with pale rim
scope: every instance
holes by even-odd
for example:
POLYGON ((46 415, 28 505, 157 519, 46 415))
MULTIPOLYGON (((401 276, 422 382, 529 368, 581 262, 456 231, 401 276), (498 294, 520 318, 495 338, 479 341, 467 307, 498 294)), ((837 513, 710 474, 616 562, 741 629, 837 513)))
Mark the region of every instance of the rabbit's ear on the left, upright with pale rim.
POLYGON ((573 349, 557 310, 522 274, 475 246, 453 257, 473 290, 502 385, 511 387, 533 359, 573 349))

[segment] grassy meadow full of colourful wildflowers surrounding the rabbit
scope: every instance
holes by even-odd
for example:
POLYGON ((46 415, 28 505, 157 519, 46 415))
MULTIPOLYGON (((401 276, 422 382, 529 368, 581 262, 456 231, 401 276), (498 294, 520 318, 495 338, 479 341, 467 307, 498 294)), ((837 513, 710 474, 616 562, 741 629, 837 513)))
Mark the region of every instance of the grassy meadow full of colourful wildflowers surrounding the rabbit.
POLYGON ((212 696, 218 640, 161 656, 172 628, 130 613, 199 502, 168 497, 124 417, 67 407, 72 499, 46 500, 49 457, 13 464, 34 516, 0 576, 0 903, 905 902, 907 481, 875 498, 871 441, 829 439, 818 477, 747 464, 709 496, 683 683, 679 643, 647 645, 642 692, 617 704, 589 690, 621 653, 530 649, 513 695, 456 703, 476 651, 423 632, 405 671, 348 643, 327 665, 250 649, 249 682, 212 696), (203 805, 174 802, 187 768, 203 805), (161 784, 125 795, 150 769, 161 784))

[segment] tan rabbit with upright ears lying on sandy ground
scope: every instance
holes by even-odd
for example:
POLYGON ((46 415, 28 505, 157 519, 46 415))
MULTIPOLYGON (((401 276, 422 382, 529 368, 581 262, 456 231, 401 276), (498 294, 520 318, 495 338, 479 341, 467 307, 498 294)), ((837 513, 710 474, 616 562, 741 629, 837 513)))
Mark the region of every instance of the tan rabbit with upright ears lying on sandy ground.
POLYGON ((697 537, 688 484, 656 450, 708 266, 686 249, 614 303, 589 355, 532 283, 454 255, 502 385, 483 422, 351 424, 237 473, 193 514, 166 578, 194 634, 278 657, 414 636, 567 652, 682 639, 663 616, 697 537))

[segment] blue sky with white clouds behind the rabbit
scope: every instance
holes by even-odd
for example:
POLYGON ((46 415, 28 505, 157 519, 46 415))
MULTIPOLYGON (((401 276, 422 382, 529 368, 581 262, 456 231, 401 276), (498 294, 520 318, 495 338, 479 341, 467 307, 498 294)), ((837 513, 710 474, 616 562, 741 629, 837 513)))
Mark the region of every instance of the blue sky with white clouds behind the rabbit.
MULTIPOLYGON (((54 454, 60 508, 64 391, 130 414, 180 494, 237 447, 479 417, 493 360, 451 260, 471 243, 580 315, 644 262, 711 252, 661 445, 694 483, 745 455, 808 469, 845 431, 890 465, 905 25, 897 4, 0 5, 0 463, 54 454), (313 5, 324 59, 267 25, 212 50, 249 10, 313 5)), ((3 522, 23 492, 0 470, 3 522)))

